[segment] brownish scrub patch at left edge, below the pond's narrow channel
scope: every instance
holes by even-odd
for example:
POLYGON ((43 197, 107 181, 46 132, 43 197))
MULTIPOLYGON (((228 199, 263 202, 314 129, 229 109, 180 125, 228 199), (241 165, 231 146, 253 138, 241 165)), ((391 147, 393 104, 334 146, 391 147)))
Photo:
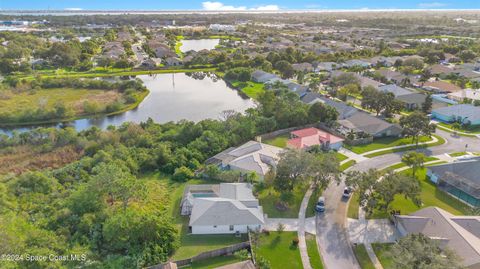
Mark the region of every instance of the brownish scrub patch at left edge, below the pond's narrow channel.
POLYGON ((12 153, 0 153, 0 174, 21 174, 27 170, 60 168, 78 160, 83 152, 73 146, 57 148, 51 152, 38 153, 29 146, 14 148, 12 153))

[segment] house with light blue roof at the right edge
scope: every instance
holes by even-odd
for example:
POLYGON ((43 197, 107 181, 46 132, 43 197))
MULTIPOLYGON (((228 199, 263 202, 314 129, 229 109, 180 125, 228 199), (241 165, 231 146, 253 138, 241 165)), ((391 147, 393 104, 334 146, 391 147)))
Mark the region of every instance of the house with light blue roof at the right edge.
POLYGON ((480 107, 470 104, 441 107, 432 110, 432 118, 477 126, 480 125, 480 107))

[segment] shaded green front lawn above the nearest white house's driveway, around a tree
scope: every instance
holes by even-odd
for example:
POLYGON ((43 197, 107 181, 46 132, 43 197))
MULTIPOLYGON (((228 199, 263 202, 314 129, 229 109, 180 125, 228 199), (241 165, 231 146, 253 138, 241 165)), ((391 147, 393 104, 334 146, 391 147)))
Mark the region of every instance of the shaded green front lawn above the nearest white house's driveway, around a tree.
POLYGON ((292 194, 287 197, 288 208, 279 210, 275 206, 281 201, 280 193, 275 191, 273 187, 268 187, 258 192, 258 199, 263 207, 263 212, 270 218, 298 218, 298 211, 305 195, 307 186, 297 186, 292 194))

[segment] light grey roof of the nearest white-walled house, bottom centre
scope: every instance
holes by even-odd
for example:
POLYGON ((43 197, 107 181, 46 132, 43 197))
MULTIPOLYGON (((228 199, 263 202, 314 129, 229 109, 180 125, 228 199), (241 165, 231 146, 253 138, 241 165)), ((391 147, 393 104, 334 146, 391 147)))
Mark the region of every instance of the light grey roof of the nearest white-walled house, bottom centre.
POLYGON ((264 224, 261 206, 249 208, 242 202, 226 198, 197 198, 190 215, 190 226, 264 224))

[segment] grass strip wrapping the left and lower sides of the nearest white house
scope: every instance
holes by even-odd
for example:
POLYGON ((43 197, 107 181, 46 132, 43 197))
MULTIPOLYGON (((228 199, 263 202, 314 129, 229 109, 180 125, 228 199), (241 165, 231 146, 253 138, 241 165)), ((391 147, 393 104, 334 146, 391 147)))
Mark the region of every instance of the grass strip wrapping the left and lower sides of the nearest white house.
POLYGON ((180 202, 182 201, 183 191, 188 184, 214 184, 216 182, 201 179, 192 179, 187 182, 178 183, 172 181, 169 176, 161 173, 152 173, 144 176, 147 180, 159 180, 164 182, 165 187, 170 191, 169 211, 174 223, 180 233, 180 247, 173 255, 173 260, 181 260, 193 257, 202 252, 230 246, 248 240, 248 236, 241 238, 235 235, 192 235, 188 231, 188 216, 180 215, 180 202))

